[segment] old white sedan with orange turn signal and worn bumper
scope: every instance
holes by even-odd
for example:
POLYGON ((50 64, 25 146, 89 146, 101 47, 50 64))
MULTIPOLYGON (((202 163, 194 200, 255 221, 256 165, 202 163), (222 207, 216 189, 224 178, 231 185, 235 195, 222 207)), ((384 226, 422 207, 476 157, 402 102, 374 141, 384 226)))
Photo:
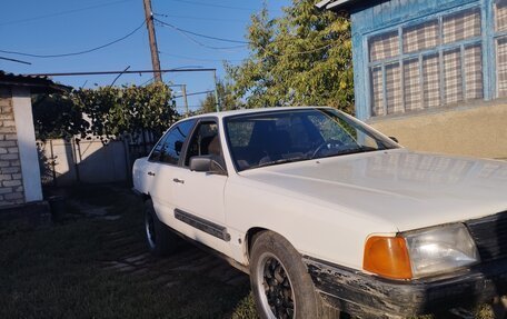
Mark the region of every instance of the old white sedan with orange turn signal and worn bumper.
POLYGON ((183 237, 218 252, 250 275, 261 318, 401 318, 507 293, 507 163, 412 152, 331 108, 181 120, 133 183, 150 250, 183 237))

